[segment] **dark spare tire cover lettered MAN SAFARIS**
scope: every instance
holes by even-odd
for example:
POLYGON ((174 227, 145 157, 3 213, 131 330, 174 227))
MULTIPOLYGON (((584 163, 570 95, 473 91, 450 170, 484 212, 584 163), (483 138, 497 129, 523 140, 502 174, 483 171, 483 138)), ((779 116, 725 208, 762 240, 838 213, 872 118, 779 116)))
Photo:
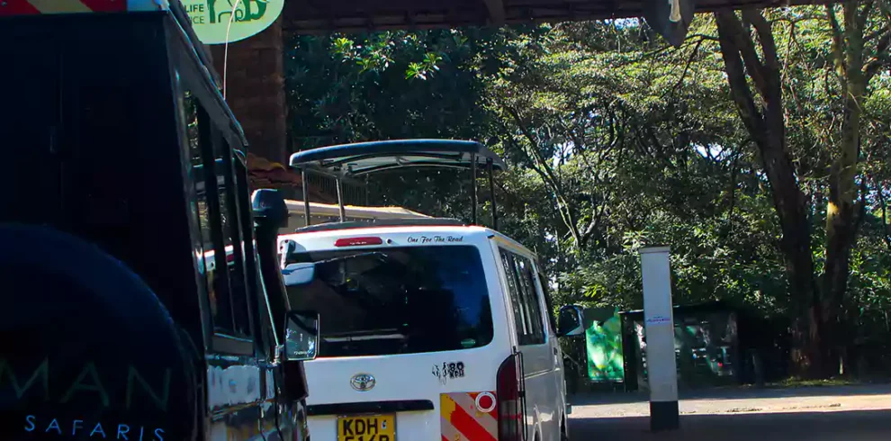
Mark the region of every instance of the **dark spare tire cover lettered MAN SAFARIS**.
POLYGON ((56 229, 0 244, 0 438, 193 437, 195 355, 148 284, 56 229))

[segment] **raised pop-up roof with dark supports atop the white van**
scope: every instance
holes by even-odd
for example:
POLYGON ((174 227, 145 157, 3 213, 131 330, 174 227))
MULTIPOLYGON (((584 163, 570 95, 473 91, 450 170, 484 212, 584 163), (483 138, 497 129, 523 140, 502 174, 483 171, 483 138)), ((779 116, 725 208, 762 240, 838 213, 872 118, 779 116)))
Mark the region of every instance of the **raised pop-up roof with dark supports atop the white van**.
MULTIPOLYGON (((498 229, 498 210, 495 203, 494 172, 506 170, 508 165, 491 149, 480 142, 458 139, 392 139, 357 142, 336 146, 311 148, 291 155, 291 166, 299 168, 302 181, 307 173, 329 175, 335 178, 340 206, 340 222, 329 229, 346 227, 347 213, 344 208, 341 180, 351 176, 371 175, 406 167, 447 167, 470 169, 473 190, 471 192, 472 223, 477 223, 476 175, 479 166, 485 166, 489 175, 489 192, 492 200, 492 224, 498 229)), ((310 226, 310 199, 307 185, 303 185, 303 215, 310 226)), ((414 223, 419 225, 419 223, 414 223)), ((306 231, 306 228, 299 229, 306 231)))

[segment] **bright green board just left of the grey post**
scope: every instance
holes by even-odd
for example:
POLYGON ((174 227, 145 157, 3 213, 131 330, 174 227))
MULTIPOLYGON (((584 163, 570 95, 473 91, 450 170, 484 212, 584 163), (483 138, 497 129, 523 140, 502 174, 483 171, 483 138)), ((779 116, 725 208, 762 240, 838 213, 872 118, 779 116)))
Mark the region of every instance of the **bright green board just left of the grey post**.
POLYGON ((597 383, 625 381, 622 320, 617 308, 585 310, 588 377, 597 383))

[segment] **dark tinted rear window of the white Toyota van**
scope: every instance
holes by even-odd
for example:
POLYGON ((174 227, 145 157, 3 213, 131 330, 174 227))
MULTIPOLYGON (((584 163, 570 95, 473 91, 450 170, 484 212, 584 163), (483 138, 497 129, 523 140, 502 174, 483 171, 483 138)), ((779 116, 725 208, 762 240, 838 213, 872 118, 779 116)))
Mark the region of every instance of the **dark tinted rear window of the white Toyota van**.
POLYGON ((310 284, 288 287, 295 310, 320 313, 319 356, 383 356, 488 345, 492 314, 471 246, 297 253, 310 284))

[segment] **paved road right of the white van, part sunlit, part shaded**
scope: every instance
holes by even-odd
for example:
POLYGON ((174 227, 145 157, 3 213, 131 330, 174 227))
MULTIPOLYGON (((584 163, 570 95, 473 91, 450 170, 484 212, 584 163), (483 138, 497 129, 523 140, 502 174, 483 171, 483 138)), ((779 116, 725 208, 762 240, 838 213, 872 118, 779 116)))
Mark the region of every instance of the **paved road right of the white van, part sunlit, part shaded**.
POLYGON ((680 401, 678 431, 649 431, 645 396, 574 400, 574 441, 891 441, 891 385, 699 392, 680 401))

